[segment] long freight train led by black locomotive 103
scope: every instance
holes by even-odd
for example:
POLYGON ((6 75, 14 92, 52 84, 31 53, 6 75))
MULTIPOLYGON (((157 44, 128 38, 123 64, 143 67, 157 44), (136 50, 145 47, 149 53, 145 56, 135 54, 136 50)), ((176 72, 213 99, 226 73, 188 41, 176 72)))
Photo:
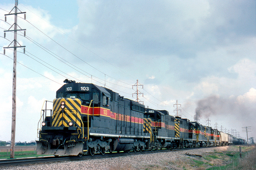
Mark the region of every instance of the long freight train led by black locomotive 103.
POLYGON ((246 143, 167 110, 146 108, 105 87, 68 79, 64 83, 52 109, 42 109, 37 154, 93 156, 246 143))

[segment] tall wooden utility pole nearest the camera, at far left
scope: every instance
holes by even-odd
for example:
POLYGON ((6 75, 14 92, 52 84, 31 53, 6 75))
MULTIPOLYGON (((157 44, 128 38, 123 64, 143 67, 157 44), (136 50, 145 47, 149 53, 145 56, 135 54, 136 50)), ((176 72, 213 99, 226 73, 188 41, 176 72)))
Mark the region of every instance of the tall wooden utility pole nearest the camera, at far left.
MULTIPOLYGON (((9 28, 9 30, 4 31, 4 38, 5 38, 5 32, 13 31, 14 32, 14 40, 13 46, 4 47, 4 54, 5 54, 5 48, 13 48, 13 76, 12 76, 12 134, 11 134, 11 152, 10 152, 10 158, 14 158, 14 147, 15 147, 15 126, 16 126, 16 62, 17 62, 17 48, 23 47, 24 53, 25 53, 25 47, 26 46, 17 46, 17 31, 24 31, 24 36, 26 35, 26 29, 19 29, 17 30, 17 14, 24 14, 24 19, 26 19, 26 12, 18 12, 18 0, 15 1, 15 6, 12 8, 14 9, 14 13, 9 12, 9 14, 5 14, 5 22, 6 22, 6 16, 7 15, 14 15, 14 30, 11 30, 12 26, 9 28)), ((20 26, 19 26, 20 27, 20 26)), ((19 44, 19 43, 18 43, 19 44)), ((19 44, 20 45, 20 44, 19 44)))

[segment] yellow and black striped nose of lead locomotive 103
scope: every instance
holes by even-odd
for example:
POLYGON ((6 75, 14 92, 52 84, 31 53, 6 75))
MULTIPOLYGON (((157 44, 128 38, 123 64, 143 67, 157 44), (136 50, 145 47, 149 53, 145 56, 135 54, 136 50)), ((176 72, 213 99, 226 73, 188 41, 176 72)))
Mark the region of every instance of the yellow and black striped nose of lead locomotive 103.
POLYGON ((52 126, 69 126, 73 122, 81 127, 81 100, 73 98, 58 98, 53 100, 52 126))

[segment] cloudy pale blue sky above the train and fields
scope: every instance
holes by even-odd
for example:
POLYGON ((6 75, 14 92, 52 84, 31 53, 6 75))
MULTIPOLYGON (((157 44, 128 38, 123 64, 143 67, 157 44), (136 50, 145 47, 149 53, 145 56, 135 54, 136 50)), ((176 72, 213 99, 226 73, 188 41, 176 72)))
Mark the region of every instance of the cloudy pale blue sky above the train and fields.
MULTIPOLYGON (((0 0, 0 140, 11 140, 14 0, 0 0)), ((15 141, 37 140, 64 80, 105 86, 146 107, 256 140, 255 0, 19 0, 15 141), (48 105, 49 106, 49 105, 48 105), (45 106, 44 106, 45 107, 45 106), (51 107, 51 106, 50 106, 51 107), (50 108, 49 108, 50 109, 50 108), (180 111, 181 110, 181 111, 180 111)))

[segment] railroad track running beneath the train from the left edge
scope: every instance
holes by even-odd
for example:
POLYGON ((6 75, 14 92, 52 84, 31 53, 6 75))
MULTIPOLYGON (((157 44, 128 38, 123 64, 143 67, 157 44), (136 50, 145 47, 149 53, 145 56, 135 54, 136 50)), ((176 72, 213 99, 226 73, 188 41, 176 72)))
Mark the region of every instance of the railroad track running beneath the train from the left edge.
MULTIPOLYGON (((211 147, 219 147, 219 146, 211 146, 211 147)), ((157 152, 175 152, 180 150, 193 150, 207 147, 199 147, 199 148, 177 148, 177 149, 161 149, 154 151, 143 151, 143 152, 113 152, 106 153, 105 155, 94 155, 89 156, 85 155, 82 157, 78 156, 44 156, 44 157, 32 157, 32 158, 17 158, 17 159, 0 159, 0 167, 1 166, 17 166, 17 165, 27 165, 27 164, 35 164, 35 163, 45 163, 45 162, 61 162, 61 161, 74 161, 74 160, 85 160, 85 159, 95 159, 95 158, 108 158, 108 157, 118 157, 118 156, 126 156, 126 155, 136 155, 136 154, 148 154, 148 153, 157 153, 157 152)))

